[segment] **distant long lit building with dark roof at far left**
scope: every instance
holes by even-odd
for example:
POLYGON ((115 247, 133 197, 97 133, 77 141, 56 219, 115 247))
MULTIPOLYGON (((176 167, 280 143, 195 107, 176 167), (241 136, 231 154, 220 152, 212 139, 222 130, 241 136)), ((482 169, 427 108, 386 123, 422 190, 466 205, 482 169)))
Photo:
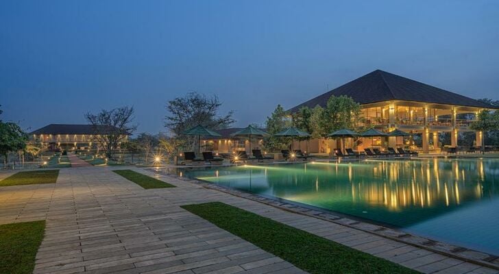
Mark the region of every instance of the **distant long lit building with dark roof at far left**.
MULTIPOLYGON (((29 139, 42 142, 49 150, 97 149, 101 144, 95 134, 108 127, 93 125, 50 124, 29 133, 29 139)), ((127 140, 128 136, 123 136, 127 140)))

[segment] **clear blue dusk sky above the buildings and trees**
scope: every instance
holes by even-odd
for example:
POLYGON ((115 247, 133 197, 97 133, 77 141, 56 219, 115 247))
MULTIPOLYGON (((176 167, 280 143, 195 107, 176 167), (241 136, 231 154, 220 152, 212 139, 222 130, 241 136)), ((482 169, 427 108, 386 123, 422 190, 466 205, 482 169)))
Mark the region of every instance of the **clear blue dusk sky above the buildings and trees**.
POLYGON ((263 123, 376 69, 499 99, 499 1, 0 2, 2 119, 28 131, 133 105, 157 133, 189 91, 263 123))

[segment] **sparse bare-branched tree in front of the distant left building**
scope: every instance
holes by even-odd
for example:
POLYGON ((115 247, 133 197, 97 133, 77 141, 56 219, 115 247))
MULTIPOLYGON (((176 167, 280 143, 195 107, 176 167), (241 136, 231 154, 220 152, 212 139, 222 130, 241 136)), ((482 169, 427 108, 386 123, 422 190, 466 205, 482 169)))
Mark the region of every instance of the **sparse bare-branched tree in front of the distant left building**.
POLYGON ((133 107, 114 108, 101 110, 98 114, 85 114, 86 121, 93 125, 94 138, 102 145, 106 157, 113 158, 114 152, 119 148, 120 142, 126 140, 137 128, 132 125, 134 120, 133 107))

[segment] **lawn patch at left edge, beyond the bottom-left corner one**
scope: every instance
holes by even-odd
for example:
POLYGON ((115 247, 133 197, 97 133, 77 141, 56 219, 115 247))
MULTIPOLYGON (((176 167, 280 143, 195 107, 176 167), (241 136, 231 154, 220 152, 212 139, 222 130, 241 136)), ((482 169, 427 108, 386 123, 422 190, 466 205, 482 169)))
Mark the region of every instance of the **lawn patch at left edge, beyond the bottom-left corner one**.
POLYGON ((0 186, 21 186, 23 184, 55 184, 58 169, 47 171, 21 171, 0 181, 0 186))

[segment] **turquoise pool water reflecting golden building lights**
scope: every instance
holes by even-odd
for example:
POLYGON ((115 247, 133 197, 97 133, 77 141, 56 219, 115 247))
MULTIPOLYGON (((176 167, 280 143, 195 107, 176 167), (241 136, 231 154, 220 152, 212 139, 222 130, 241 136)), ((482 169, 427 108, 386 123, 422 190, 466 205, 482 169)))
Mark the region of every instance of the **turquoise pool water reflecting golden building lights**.
POLYGON ((499 255, 499 160, 366 160, 177 172, 499 255))

